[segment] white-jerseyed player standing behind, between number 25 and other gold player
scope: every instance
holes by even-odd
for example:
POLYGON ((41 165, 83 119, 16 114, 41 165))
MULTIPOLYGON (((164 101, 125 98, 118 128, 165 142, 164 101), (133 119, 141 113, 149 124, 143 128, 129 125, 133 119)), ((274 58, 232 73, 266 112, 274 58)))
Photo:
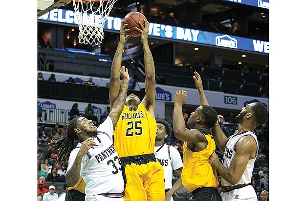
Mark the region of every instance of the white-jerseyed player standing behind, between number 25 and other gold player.
POLYGON ((165 200, 173 201, 172 195, 183 187, 181 181, 183 162, 178 150, 164 142, 172 135, 172 129, 167 123, 167 121, 156 120, 156 122, 157 135, 156 141, 154 143, 154 154, 156 158, 162 162, 164 169, 166 192, 165 200), (173 170, 178 178, 178 180, 174 184, 172 184, 173 170))

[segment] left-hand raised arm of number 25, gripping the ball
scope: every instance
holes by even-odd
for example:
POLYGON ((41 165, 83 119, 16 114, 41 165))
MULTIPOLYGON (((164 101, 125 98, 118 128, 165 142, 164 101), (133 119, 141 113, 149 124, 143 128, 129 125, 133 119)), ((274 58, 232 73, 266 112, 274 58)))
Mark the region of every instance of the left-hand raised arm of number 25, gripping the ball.
POLYGON ((120 41, 118 43, 118 47, 114 58, 111 63, 111 70, 110 70, 110 79, 109 79, 109 101, 110 101, 110 109, 112 108, 113 102, 116 100, 119 89, 120 89, 120 68, 122 64, 122 54, 123 48, 127 40, 130 38, 129 35, 126 35, 125 32, 129 29, 125 29, 127 24, 123 24, 121 22, 120 28, 120 41))

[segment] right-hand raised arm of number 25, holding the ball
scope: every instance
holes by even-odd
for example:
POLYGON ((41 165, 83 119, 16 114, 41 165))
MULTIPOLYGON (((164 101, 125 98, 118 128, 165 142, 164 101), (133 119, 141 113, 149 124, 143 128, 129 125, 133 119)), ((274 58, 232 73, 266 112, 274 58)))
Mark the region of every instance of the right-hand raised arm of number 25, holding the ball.
POLYGON ((154 117, 154 108, 155 108, 155 96, 156 96, 156 78, 155 78, 155 67, 151 54, 151 50, 148 42, 149 34, 149 22, 144 19, 144 26, 139 21, 141 29, 136 28, 136 30, 141 32, 141 41, 143 44, 144 52, 144 65, 145 65, 145 97, 142 100, 142 103, 149 111, 152 117, 154 117), (150 108, 151 107, 151 108, 150 108))

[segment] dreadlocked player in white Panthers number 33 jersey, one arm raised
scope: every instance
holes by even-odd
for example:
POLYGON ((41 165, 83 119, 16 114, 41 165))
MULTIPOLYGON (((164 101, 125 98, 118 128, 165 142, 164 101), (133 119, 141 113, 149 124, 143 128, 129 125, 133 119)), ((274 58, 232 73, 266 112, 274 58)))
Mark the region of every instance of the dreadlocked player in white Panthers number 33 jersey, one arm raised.
POLYGON ((112 135, 125 104, 130 76, 124 66, 120 72, 122 85, 108 118, 98 128, 84 117, 74 118, 67 126, 67 135, 51 144, 59 149, 57 162, 68 160, 66 184, 75 186, 80 176, 83 178, 86 201, 123 201, 121 162, 112 135), (80 141, 76 148, 74 139, 80 141))

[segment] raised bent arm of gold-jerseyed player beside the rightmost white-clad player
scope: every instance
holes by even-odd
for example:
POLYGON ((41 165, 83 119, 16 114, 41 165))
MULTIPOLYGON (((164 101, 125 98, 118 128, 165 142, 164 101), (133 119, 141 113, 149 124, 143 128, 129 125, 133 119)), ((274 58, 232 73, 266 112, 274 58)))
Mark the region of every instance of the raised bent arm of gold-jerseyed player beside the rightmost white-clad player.
POLYGON ((186 129, 182 113, 182 105, 186 102, 187 92, 184 90, 176 91, 174 96, 173 108, 173 132, 176 138, 189 143, 205 141, 205 137, 197 129, 186 129))

